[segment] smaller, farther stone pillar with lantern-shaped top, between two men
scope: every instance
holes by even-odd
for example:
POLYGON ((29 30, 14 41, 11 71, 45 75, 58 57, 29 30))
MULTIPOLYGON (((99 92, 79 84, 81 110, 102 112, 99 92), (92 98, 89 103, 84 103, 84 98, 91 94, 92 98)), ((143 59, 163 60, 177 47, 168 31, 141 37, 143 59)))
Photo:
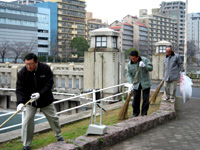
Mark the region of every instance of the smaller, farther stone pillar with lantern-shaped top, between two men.
POLYGON ((164 58, 167 46, 171 46, 168 41, 160 41, 155 43, 156 53, 152 56, 152 79, 153 80, 163 80, 164 78, 164 58))

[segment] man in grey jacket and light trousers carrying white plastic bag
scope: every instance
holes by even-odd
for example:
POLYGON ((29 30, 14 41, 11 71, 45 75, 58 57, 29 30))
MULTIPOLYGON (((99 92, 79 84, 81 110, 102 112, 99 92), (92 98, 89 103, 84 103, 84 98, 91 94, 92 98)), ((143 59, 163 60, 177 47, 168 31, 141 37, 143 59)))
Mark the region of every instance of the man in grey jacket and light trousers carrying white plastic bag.
POLYGON ((171 46, 166 48, 166 57, 164 59, 165 77, 164 86, 166 97, 164 100, 175 102, 177 81, 180 79, 180 70, 185 74, 182 59, 178 54, 172 51, 171 46))

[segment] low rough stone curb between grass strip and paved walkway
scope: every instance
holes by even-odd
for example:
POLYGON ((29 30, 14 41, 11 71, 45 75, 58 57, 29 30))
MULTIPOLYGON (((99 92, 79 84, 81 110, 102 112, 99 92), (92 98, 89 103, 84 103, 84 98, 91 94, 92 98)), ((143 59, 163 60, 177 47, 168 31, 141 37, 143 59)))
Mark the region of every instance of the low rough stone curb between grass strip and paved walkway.
POLYGON ((107 133, 103 136, 80 136, 74 141, 57 142, 39 150, 102 150, 108 149, 119 142, 131 138, 139 133, 176 118, 175 104, 161 101, 158 111, 145 116, 130 118, 120 123, 107 126, 107 133))

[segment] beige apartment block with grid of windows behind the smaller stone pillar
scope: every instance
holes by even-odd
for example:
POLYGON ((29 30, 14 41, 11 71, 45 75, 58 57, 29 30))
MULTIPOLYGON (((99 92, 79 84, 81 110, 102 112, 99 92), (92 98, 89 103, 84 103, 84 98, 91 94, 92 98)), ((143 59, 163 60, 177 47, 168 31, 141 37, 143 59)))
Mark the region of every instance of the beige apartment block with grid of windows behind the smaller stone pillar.
POLYGON ((175 50, 177 49, 177 27, 171 18, 152 14, 139 18, 138 21, 148 27, 148 50, 150 59, 152 58, 152 54, 155 53, 156 42, 168 41, 172 43, 175 50))

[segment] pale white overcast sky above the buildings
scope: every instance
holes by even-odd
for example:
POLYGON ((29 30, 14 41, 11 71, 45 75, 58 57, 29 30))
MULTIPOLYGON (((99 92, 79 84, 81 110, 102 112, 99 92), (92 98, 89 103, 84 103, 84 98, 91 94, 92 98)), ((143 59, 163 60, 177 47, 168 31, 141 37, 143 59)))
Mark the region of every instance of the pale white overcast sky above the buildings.
MULTIPOLYGON (((1 0, 0 0, 1 1, 1 0)), ((12 0, 2 0, 12 1, 12 0)), ((159 8, 162 1, 177 0, 85 0, 86 10, 93 13, 94 18, 102 19, 109 24, 121 20, 126 15, 139 16, 139 9, 147 9, 151 14, 152 8, 159 8)), ((186 2, 186 0, 182 0, 186 2)), ((188 12, 200 12, 200 0, 188 0, 188 12)))

